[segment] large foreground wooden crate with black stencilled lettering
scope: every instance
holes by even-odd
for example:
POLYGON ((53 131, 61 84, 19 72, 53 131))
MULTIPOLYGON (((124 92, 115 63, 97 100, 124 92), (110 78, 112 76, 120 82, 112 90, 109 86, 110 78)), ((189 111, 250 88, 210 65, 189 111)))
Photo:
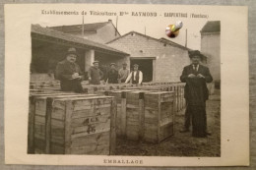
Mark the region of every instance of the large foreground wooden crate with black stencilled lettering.
POLYGON ((50 153, 114 153, 116 103, 113 97, 57 99, 53 103, 50 153))

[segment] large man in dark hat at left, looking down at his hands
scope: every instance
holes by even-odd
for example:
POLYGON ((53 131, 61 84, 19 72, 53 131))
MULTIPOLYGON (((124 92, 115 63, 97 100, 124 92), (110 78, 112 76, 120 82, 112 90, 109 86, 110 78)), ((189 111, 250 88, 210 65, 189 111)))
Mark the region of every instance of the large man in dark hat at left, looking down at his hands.
POLYGON ((69 48, 66 59, 59 62, 56 66, 56 79, 60 81, 61 90, 83 92, 81 81, 83 74, 79 65, 76 63, 78 53, 76 48, 69 48))

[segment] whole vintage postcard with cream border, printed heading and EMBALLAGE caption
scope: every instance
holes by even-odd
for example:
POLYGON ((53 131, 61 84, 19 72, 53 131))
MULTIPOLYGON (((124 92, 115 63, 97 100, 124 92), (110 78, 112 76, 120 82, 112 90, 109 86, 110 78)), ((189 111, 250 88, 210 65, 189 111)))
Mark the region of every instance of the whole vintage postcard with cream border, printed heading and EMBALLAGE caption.
POLYGON ((5 163, 249 165, 247 7, 5 5, 5 163))

